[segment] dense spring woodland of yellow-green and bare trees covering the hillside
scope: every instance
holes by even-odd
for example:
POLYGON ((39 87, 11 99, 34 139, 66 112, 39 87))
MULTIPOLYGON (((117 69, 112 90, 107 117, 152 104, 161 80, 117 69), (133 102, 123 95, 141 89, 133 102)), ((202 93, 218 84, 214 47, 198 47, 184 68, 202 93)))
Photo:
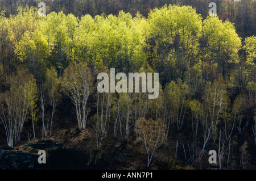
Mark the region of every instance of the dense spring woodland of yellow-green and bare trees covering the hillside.
POLYGON ((80 154, 58 169, 255 169, 256 1, 42 2, 0 1, 1 146, 80 154), (99 93, 110 68, 158 72, 159 97, 99 93))

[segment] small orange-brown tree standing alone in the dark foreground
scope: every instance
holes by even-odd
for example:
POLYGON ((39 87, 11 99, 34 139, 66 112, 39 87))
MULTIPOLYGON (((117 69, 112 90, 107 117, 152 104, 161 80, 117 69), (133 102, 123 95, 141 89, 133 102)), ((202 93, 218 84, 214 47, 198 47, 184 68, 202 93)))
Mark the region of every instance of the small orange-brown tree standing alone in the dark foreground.
POLYGON ((137 140, 144 143, 147 153, 147 167, 150 166, 155 150, 162 143, 161 137, 166 134, 165 127, 166 125, 161 119, 154 121, 151 118, 146 120, 141 117, 136 121, 135 132, 141 135, 137 140))

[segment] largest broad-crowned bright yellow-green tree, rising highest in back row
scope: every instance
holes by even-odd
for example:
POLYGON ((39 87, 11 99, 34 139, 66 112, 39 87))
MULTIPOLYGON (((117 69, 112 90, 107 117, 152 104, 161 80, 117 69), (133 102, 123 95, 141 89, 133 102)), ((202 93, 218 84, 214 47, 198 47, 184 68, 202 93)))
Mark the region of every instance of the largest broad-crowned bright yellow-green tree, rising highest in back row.
MULTIPOLYGON (((176 71, 168 62, 174 61, 181 72, 177 78, 182 78, 198 53, 201 16, 191 6, 165 5, 148 14, 148 23, 148 46, 154 46, 148 59, 152 61, 153 68, 165 77, 170 71, 176 71)), ((164 85, 166 81, 161 83, 164 85)))

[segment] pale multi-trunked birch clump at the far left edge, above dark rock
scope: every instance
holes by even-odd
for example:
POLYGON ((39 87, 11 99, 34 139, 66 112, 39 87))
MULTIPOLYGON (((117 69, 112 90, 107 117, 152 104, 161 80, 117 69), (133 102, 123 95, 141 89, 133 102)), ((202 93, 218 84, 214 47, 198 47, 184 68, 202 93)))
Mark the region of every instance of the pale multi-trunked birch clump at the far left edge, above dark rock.
POLYGON ((18 68, 10 80, 10 90, 1 93, 0 117, 5 127, 7 145, 20 141, 24 122, 28 116, 27 84, 31 74, 27 69, 18 68))

